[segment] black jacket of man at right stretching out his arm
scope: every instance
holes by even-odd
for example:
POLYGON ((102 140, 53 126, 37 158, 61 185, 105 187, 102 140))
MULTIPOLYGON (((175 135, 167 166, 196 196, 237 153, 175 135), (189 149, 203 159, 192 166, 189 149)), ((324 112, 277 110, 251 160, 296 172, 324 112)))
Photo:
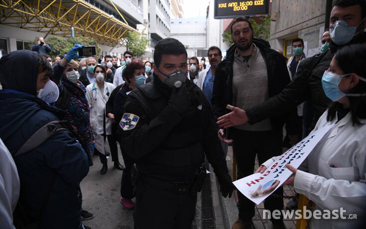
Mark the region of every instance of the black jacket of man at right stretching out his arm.
POLYGON ((307 134, 314 129, 319 117, 325 112, 331 100, 325 95, 322 87, 324 71, 329 68, 333 54, 330 51, 320 59, 318 64, 307 74, 315 56, 303 60, 292 82, 279 94, 269 98, 262 104, 246 110, 249 123, 253 124, 273 115, 281 115, 292 107, 310 99, 313 106, 313 120, 307 134))

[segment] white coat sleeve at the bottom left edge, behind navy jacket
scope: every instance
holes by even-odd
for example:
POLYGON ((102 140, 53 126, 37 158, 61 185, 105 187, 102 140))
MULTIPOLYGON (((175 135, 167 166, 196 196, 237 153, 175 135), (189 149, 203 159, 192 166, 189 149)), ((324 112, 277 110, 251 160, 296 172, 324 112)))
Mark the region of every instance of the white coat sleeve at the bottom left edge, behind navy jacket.
POLYGON ((19 192, 20 182, 14 160, 0 139, 0 228, 15 229, 13 212, 19 192))

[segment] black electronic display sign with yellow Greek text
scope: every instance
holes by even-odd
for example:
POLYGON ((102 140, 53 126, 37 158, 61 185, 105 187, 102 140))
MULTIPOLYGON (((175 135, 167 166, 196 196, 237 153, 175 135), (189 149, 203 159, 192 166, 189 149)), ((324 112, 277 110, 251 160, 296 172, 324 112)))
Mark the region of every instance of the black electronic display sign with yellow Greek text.
POLYGON ((214 0, 214 17, 235 18, 269 14, 270 0, 214 0))

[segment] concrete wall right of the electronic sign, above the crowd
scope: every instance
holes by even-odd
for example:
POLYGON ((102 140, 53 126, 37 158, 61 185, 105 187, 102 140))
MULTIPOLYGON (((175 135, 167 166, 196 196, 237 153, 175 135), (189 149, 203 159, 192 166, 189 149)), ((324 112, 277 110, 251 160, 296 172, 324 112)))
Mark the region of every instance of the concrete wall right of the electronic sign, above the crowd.
MULTIPOLYGON (((284 40, 292 36, 302 38, 306 43, 305 54, 320 51, 319 35, 325 23, 326 0, 272 0, 271 14, 277 14, 271 21, 269 43, 274 49, 283 50, 284 40)), ((307 55, 308 56, 308 55, 307 55)))

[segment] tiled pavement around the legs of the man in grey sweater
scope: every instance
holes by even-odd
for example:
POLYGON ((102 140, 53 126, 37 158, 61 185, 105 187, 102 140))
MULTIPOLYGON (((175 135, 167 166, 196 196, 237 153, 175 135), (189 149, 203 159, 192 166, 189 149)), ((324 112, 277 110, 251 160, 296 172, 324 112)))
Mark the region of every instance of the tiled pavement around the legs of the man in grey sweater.
MULTIPOLYGON (((230 173, 231 176, 233 176, 232 159, 233 159, 233 149, 232 149, 232 147, 229 146, 228 157, 227 157, 227 165, 228 165, 229 173, 230 173)), ((258 168, 258 160, 255 159, 255 169, 254 169, 254 171, 257 168, 258 168)), ((285 186, 284 189, 283 189, 283 192, 284 192, 284 194, 283 194, 284 196, 294 196, 294 191, 293 191, 292 187, 285 186)), ((237 196, 237 193, 236 193, 234 198, 238 202, 237 197, 238 196, 237 196)), ((289 202, 289 199, 283 199, 284 206, 286 206, 287 202, 289 202)), ((260 203, 259 205, 255 206, 255 215, 252 219, 253 223, 254 223, 254 226, 255 226, 256 229, 271 229, 273 227, 271 221, 270 220, 263 220, 263 210, 264 210, 263 202, 260 203)), ((287 229, 295 229, 296 228, 296 220, 284 219, 283 222, 284 222, 287 229)))

